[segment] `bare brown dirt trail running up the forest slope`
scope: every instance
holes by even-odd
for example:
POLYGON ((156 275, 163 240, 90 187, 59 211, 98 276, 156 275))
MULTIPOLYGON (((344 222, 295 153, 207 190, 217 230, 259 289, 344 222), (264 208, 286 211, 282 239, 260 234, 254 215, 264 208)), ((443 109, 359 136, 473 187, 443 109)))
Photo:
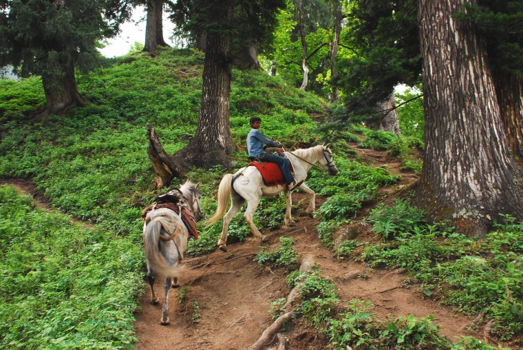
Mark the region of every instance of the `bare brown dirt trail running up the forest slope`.
MULTIPOLYGON (((358 149, 356 149, 358 150, 358 149)), ((412 173, 403 173, 400 164, 389 161, 384 152, 358 150, 363 161, 385 167, 389 172, 401 174, 403 180, 382 189, 384 194, 394 194, 416 179, 412 173)), ((8 181, 25 193, 32 194, 37 205, 47 207, 45 200, 26 181, 8 181)), ((303 194, 292 194, 298 203, 303 194)), ((317 198, 317 207, 325 198, 317 198)), ((293 213, 297 227, 281 227, 278 231, 264 232, 270 238, 263 245, 268 249, 279 246, 279 237, 295 239, 294 249, 301 258, 310 256, 323 276, 335 283, 344 302, 352 298, 369 300, 376 307, 375 315, 381 320, 408 316, 419 318, 431 314, 441 332, 451 340, 459 336, 475 336, 479 333, 463 330, 471 318, 453 312, 423 297, 417 285, 407 285, 403 271, 371 269, 363 263, 338 260, 333 251, 319 243, 317 220, 305 215, 306 204, 293 213)), ((238 214, 239 215, 239 214, 238 214)), ((363 230, 359 241, 376 240, 373 234, 363 230)), ((270 302, 286 298, 289 289, 286 273, 281 269, 270 270, 253 261, 261 244, 253 238, 243 243, 228 244, 228 252, 214 251, 204 256, 184 259, 188 269, 180 278, 181 289, 171 289, 169 294, 169 317, 171 324, 159 324, 162 304, 151 305, 149 286, 144 282, 145 294, 141 298, 141 310, 136 313, 135 327, 138 350, 172 349, 246 349, 254 344, 272 322, 270 302), (184 297, 180 295, 184 293, 184 297), (195 309, 195 305, 197 308, 195 309), (196 318, 194 322, 193 318, 196 318)), ((163 298, 163 281, 156 281, 156 293, 163 298)), ((288 349, 324 349, 325 340, 303 319, 290 322, 284 330, 288 349)), ((277 344, 269 344, 271 349, 277 344)))

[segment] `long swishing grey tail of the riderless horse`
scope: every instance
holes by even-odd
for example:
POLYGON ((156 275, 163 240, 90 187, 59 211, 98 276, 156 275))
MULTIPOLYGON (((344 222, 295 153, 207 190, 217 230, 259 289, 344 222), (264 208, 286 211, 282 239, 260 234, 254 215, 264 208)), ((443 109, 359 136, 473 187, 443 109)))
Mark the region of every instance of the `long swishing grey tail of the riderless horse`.
MULTIPOLYGON (((162 223, 154 218, 143 229, 143 245, 145 256, 149 267, 161 276, 178 277, 182 271, 182 266, 169 266, 160 257, 159 241, 162 223)), ((178 259, 176 259, 178 260, 178 259)))

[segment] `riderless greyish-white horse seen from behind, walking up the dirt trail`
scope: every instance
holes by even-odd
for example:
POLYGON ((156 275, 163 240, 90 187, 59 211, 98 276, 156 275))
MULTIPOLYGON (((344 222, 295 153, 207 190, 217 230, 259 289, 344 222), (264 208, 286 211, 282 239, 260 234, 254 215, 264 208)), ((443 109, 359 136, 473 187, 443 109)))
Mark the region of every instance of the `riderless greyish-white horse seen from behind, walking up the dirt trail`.
MULTIPOLYGON (((200 189, 198 184, 186 181, 180 189, 169 189, 167 194, 176 199, 180 198, 174 207, 178 213, 162 205, 154 205, 145 216, 143 227, 143 243, 145 256, 147 258, 147 280, 151 286, 151 303, 158 304, 159 298, 154 294, 154 280, 156 274, 165 276, 164 282, 164 305, 162 310, 161 325, 169 325, 169 289, 171 286, 178 287, 178 276, 182 270, 182 260, 187 247, 189 230, 182 221, 180 213, 189 209, 196 221, 203 215, 200 210, 200 189), (160 254, 165 260, 162 260, 160 254)), ((162 196, 158 197, 162 198, 162 196)), ((157 199, 158 199, 157 198, 157 199)), ((176 200, 175 200, 176 201, 176 200)), ((166 201, 166 203, 172 203, 166 201)), ((156 204, 156 203, 155 203, 156 204)))

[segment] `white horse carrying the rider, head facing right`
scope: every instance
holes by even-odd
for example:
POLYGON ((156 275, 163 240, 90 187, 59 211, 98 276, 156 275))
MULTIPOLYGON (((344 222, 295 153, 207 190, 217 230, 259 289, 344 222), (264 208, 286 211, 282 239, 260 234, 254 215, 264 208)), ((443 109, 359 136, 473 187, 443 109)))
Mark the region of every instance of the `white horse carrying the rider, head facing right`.
MULTIPOLYGON (((312 216, 315 210, 315 199, 316 194, 306 184, 307 172, 310 168, 318 166, 325 169, 330 175, 336 175, 338 169, 334 165, 332 160, 332 151, 328 145, 317 145, 314 147, 299 149, 292 152, 285 152, 286 157, 290 159, 295 169, 295 178, 297 182, 303 181, 301 185, 295 187, 301 189, 309 195, 309 205, 307 207, 307 214, 312 216), (318 164, 318 165, 316 165, 318 164)), ((204 221, 204 225, 211 225, 217 220, 220 220, 224 216, 226 206, 228 204, 228 197, 231 196, 231 209, 228 210, 224 216, 224 226, 222 229, 222 236, 218 240, 218 247, 222 251, 227 251, 227 228, 233 216, 242 207, 245 201, 247 201, 247 209, 244 214, 244 218, 250 226, 251 231, 256 238, 265 242, 266 236, 262 235, 253 222, 253 215, 256 208, 259 205, 261 196, 275 196, 281 191, 285 191, 285 199, 287 210, 285 214, 285 224, 289 226, 295 226, 296 223, 292 220, 290 208, 292 206, 292 199, 290 191, 286 185, 273 185, 267 186, 264 184, 261 174, 256 167, 245 167, 240 169, 236 174, 226 174, 222 178, 220 187, 218 187, 218 206, 215 214, 204 221)))

